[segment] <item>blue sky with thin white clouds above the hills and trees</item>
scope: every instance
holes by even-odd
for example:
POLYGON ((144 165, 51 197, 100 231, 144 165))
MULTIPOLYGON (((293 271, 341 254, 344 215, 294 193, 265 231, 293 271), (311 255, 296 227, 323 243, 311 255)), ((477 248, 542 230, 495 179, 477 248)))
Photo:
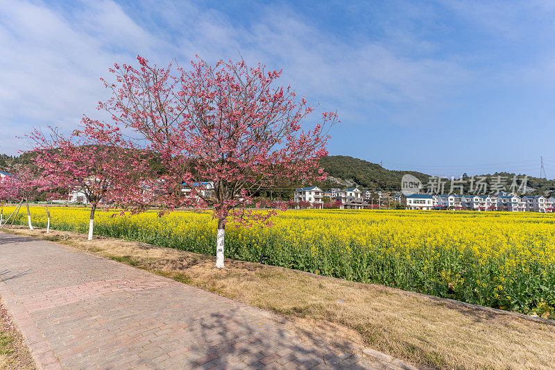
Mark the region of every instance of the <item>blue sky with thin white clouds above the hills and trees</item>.
POLYGON ((337 110, 332 155, 444 176, 538 176, 543 155, 554 178, 553 19, 552 1, 0 0, 0 153, 96 115, 114 62, 240 51, 337 110))

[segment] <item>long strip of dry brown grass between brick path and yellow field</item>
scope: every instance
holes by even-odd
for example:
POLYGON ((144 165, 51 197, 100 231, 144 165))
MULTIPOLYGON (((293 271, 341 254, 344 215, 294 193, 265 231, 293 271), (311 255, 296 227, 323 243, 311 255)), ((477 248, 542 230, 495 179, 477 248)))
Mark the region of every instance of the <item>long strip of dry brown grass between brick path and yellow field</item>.
POLYGON ((553 369, 555 325, 400 289, 214 258, 121 239, 44 230, 69 244, 293 319, 300 332, 364 344, 445 369, 553 369))

